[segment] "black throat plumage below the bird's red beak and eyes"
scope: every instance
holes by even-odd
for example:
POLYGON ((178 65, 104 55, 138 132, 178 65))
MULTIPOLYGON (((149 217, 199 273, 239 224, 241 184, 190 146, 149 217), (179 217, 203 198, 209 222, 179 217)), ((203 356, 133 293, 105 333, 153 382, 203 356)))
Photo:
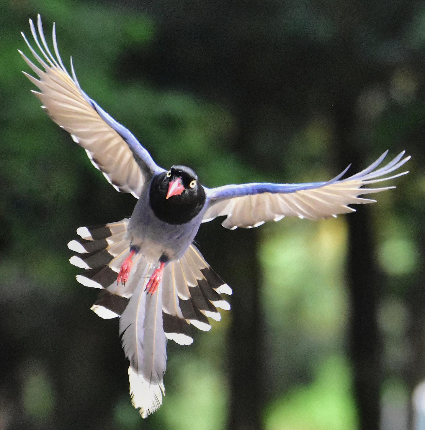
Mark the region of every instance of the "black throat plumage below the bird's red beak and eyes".
POLYGON ((149 188, 149 205, 153 213, 168 224, 185 224, 201 212, 205 204, 205 190, 201 184, 187 188, 180 196, 165 198, 169 180, 166 172, 155 175, 149 188))

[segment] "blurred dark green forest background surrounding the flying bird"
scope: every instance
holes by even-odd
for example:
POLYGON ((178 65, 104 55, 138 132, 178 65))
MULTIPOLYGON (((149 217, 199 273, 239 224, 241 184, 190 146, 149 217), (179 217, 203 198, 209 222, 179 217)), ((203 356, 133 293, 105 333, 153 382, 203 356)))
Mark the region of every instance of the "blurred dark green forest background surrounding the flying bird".
MULTIPOLYGON (((422 1, 3 0, 0 15, 0 430, 406 430, 425 378, 422 1), (207 186, 302 182, 413 158, 397 189, 337 219, 204 224, 232 310, 168 344, 142 420, 116 320, 74 279, 75 229, 119 194, 30 93, 19 31, 57 25, 81 86, 161 166, 207 186)), ((50 40, 50 36, 48 37, 50 40)), ((66 61, 68 64, 68 61, 66 61)), ((417 427, 419 428, 419 427, 417 427)), ((422 427, 424 428, 424 427, 422 427)))

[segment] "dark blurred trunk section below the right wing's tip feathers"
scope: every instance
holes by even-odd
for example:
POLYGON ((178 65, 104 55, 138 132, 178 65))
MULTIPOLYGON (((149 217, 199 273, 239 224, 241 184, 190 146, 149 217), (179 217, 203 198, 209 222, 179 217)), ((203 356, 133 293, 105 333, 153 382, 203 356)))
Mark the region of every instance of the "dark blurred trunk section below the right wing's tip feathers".
POLYGON ((379 276, 374 262, 368 210, 348 221, 347 286, 350 292, 349 352, 361 430, 378 430, 382 384, 382 341, 377 311, 379 276))

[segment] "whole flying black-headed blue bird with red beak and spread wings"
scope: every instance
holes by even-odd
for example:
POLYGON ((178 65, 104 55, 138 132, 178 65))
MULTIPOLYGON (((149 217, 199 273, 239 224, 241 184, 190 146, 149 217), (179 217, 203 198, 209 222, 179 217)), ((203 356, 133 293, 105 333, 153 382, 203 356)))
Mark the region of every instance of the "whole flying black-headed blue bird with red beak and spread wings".
POLYGON ((375 202, 359 196, 394 188, 364 186, 405 175, 396 171, 410 157, 402 151, 382 166, 385 151, 366 169, 344 178, 348 166, 329 181, 205 187, 187 166, 158 166, 137 138, 81 89, 72 57, 69 74, 59 55, 55 23, 53 52, 40 15, 29 24, 36 48, 21 34, 32 61, 18 51, 37 76, 23 72, 37 87, 31 91, 109 183, 138 199, 130 218, 79 227, 80 238, 68 248, 76 253, 71 264, 84 269, 77 281, 100 289, 91 309, 104 319, 119 318, 130 396, 146 418, 165 394, 167 341, 191 344, 190 326, 208 331, 209 318, 220 320, 217 309, 230 309, 222 295, 232 289, 194 243, 202 223, 225 217, 223 227, 233 230, 287 216, 319 220, 355 212, 350 204, 375 202))

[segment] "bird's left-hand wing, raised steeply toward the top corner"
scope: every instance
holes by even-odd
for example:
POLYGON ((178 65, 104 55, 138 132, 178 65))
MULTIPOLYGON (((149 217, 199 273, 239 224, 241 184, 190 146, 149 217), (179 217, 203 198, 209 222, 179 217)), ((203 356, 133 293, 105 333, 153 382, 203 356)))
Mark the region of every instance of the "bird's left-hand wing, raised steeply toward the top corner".
POLYGON ((39 78, 23 72, 40 89, 40 92, 32 91, 40 98, 42 107, 56 124, 71 133, 74 141, 86 150, 93 166, 103 172, 116 190, 131 193, 138 198, 143 183, 164 169, 155 164, 148 151, 129 130, 117 123, 81 89, 75 76, 72 58, 71 77, 59 55, 55 24, 52 34, 55 55, 46 43, 40 15, 37 15, 38 36, 31 19, 30 28, 41 56, 25 35, 21 34, 44 71, 21 51, 19 53, 39 78))

